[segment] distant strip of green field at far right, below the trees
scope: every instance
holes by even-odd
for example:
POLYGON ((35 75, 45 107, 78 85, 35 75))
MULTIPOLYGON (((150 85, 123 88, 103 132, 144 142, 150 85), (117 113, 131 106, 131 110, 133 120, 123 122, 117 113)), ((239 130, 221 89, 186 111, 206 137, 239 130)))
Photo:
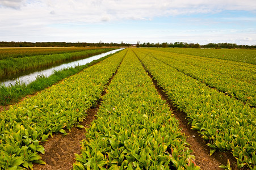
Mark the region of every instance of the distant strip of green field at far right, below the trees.
POLYGON ((157 48, 165 52, 188 54, 208 58, 256 64, 256 51, 253 49, 194 49, 194 48, 157 48))

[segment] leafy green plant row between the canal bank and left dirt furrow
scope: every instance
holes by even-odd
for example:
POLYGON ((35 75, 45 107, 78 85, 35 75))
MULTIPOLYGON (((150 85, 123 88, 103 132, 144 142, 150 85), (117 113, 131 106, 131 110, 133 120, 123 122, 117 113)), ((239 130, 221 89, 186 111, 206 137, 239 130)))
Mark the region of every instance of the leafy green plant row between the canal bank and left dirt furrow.
POLYGON ((64 133, 86 116, 99 100, 104 86, 117 70, 125 50, 62 80, 37 95, 0 113, 0 168, 32 169, 45 164, 41 142, 52 133, 64 133))

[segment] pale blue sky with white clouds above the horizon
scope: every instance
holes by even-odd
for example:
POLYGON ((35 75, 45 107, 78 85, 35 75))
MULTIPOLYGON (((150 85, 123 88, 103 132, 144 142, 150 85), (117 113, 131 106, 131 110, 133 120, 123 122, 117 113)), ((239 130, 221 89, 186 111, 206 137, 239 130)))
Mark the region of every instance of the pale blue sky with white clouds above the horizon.
POLYGON ((255 0, 0 0, 0 41, 256 44, 255 0))

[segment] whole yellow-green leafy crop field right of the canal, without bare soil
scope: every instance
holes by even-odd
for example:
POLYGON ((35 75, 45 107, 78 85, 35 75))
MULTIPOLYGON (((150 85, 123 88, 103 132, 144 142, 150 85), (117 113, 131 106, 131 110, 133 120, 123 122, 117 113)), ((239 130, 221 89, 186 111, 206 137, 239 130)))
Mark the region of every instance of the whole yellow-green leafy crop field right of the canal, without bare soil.
POLYGON ((79 122, 102 100, 74 169, 199 169, 194 144, 186 142, 151 75, 211 155, 230 152, 236 159, 231 166, 255 169, 255 73, 253 64, 198 54, 122 50, 1 112, 0 167, 45 164, 43 143, 53 133, 83 128, 79 122))

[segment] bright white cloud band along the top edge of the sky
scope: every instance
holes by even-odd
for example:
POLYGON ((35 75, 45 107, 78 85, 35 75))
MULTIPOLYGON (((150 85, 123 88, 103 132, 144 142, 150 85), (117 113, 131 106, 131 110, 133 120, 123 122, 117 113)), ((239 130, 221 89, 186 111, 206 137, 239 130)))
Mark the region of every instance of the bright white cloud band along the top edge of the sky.
MULTIPOLYGON (((1 0, 1 6, 20 8, 27 14, 33 14, 48 9, 59 15, 59 19, 72 18, 74 21, 100 22, 123 19, 152 19, 156 16, 175 16, 179 14, 205 14, 221 10, 246 10, 255 11, 254 0, 230 1, 230 0, 149 0, 149 1, 124 1, 124 0, 1 0), (22 6, 26 3, 26 6, 22 6)), ((0 7, 1 8, 1 7, 0 7)), ((41 14, 45 15, 45 14, 41 14)))

